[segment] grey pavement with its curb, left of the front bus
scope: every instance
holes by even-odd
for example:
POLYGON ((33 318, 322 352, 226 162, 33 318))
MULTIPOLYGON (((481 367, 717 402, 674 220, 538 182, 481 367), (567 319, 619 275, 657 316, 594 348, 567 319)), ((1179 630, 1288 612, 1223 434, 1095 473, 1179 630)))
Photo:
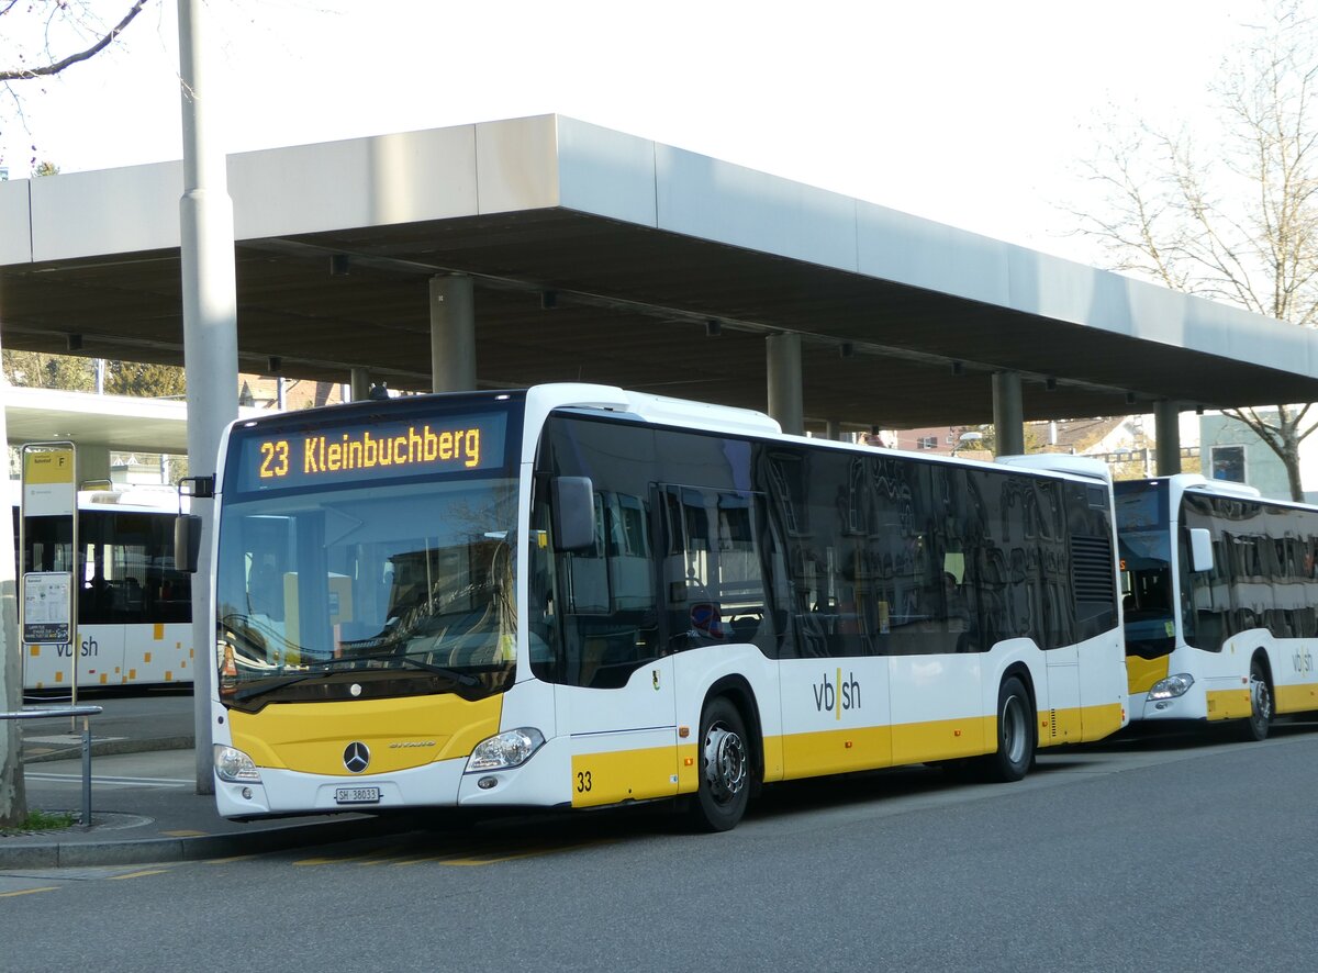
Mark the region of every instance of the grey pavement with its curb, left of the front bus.
MULTIPOLYGON (((196 791, 191 697, 91 700, 92 821, 0 836, 0 869, 127 865, 256 854, 414 829, 406 816, 332 815, 240 824, 196 791)), ((24 726, 28 808, 82 808, 80 721, 24 726)))

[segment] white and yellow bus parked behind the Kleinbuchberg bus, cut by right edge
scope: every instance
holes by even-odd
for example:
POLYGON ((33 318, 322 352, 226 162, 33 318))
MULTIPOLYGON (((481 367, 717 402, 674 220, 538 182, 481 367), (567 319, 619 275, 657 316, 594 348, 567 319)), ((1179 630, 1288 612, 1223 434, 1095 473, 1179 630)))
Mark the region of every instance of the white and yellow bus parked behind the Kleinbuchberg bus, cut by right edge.
POLYGON ((1131 719, 1318 709, 1318 508, 1177 475, 1116 484, 1131 719))

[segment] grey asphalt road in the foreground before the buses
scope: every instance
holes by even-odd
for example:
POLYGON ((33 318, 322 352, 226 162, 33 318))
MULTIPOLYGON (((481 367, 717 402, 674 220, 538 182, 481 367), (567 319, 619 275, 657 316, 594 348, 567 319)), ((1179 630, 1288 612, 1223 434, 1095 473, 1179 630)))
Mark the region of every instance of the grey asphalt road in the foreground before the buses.
POLYGON ((0 874, 0 969, 1313 969, 1318 724, 1118 741, 1016 784, 770 788, 734 832, 536 815, 0 874))

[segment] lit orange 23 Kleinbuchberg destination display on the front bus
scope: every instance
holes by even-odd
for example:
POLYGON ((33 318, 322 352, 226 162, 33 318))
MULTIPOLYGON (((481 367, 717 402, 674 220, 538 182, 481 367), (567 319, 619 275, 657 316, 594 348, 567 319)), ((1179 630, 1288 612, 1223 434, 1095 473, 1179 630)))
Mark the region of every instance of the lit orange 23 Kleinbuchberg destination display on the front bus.
POLYGON ((250 436, 241 490, 455 473, 503 463, 507 415, 456 415, 250 436))

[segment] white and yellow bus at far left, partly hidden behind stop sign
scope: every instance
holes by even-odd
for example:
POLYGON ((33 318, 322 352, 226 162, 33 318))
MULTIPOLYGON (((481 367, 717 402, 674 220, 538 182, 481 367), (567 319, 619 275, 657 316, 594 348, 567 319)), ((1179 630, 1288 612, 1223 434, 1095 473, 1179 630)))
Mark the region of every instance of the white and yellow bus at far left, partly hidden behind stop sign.
MULTIPOLYGON (((25 645, 24 690, 49 696, 78 687, 192 682, 192 577, 174 568, 173 489, 78 492, 78 563, 67 517, 29 517, 24 571, 72 571, 80 580, 72 643, 25 645), (76 651, 74 650, 76 645, 76 651)), ((20 543, 14 506, 14 545, 20 543)))

